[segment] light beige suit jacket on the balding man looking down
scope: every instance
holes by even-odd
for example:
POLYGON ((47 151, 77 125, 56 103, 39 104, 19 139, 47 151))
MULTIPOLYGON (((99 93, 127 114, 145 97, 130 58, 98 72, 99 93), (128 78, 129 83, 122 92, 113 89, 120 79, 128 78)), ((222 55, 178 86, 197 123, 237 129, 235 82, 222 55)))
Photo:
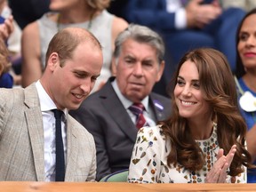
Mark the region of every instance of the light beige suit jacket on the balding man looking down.
MULTIPOLYGON (((92 134, 67 116, 65 181, 95 180, 92 134)), ((0 89, 0 180, 44 181, 44 128, 36 85, 0 89)))

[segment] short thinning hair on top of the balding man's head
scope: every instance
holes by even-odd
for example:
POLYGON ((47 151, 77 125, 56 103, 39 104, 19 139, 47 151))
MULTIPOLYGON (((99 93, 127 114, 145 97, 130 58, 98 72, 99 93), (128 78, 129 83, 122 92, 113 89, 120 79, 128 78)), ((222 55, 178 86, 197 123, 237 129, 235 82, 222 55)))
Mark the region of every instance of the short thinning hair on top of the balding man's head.
MULTIPOLYGON (((60 58, 60 66, 63 67, 65 60, 73 57, 76 47, 84 42, 98 46, 101 49, 100 42, 91 32, 84 28, 64 28, 52 37, 46 52, 45 66, 52 52, 57 52, 60 58)), ((84 50, 86 52, 86 50, 84 50)))

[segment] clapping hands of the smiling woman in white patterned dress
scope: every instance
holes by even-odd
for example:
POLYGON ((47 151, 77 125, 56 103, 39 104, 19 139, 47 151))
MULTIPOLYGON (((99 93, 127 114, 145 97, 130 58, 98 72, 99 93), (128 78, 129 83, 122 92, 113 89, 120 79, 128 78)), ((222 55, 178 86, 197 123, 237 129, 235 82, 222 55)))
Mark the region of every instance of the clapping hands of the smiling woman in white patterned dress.
POLYGON ((217 161, 213 164, 213 167, 206 176, 205 182, 207 183, 225 183, 227 178, 227 171, 230 164, 233 161, 233 157, 236 153, 236 145, 233 145, 229 150, 228 155, 224 156, 224 150, 220 148, 217 161))

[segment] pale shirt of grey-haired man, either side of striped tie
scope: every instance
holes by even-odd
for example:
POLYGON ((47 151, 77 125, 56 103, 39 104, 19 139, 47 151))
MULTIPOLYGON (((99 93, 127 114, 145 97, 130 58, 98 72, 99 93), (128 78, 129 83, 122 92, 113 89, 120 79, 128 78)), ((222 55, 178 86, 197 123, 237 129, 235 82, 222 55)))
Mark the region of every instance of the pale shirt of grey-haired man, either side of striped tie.
MULTIPOLYGON (((127 100, 127 98, 124 97, 122 92, 120 92, 118 85, 116 83, 116 79, 111 84, 113 86, 113 89, 116 92, 117 97, 122 102, 127 113, 131 117, 133 124, 136 124, 136 116, 129 109, 129 107, 133 104, 133 102, 131 100, 127 100)), ((149 126, 155 126, 156 125, 156 117, 154 115, 153 109, 150 108, 148 105, 148 100, 149 100, 149 97, 147 96, 146 98, 144 98, 144 100, 141 101, 141 103, 145 107, 145 110, 143 111, 143 116, 145 117, 149 126)))

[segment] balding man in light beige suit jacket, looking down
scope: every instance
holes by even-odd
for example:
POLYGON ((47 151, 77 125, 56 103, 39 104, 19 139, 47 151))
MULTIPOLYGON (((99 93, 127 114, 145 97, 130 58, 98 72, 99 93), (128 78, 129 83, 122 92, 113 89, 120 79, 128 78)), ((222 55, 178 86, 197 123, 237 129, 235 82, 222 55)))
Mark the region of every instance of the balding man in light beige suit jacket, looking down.
POLYGON ((56 108, 64 114, 65 181, 95 180, 92 134, 68 109, 80 106, 100 76, 100 43, 85 29, 66 28, 53 36, 46 58, 44 75, 36 83, 0 90, 0 180, 55 180, 56 108))

